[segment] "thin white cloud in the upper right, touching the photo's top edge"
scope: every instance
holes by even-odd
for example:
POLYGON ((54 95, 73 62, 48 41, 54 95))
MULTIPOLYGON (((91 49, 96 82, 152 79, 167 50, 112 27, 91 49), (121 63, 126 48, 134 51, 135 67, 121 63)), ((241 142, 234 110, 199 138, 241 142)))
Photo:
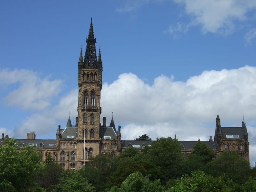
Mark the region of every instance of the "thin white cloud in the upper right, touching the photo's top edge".
POLYGON ((234 31, 235 21, 246 20, 246 14, 255 9, 254 0, 173 0, 185 6, 191 16, 190 25, 199 25, 202 32, 228 35, 234 31))

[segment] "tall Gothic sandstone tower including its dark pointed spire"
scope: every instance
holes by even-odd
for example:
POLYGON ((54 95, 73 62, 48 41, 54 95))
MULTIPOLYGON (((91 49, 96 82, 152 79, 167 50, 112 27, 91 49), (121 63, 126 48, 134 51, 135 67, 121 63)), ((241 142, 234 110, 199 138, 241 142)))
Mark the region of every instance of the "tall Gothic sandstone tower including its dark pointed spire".
MULTIPOLYGON (((85 155, 99 154, 100 143, 100 91, 102 86, 102 62, 99 51, 96 56, 96 38, 94 38, 92 18, 83 60, 82 49, 78 61, 78 151, 84 152, 84 137, 86 143, 85 155), (84 132, 85 129, 85 132, 84 132)), ((93 155, 93 156, 94 156, 93 155)), ((83 159, 83 154, 77 154, 83 159)), ((87 156, 86 156, 87 157, 87 156)))

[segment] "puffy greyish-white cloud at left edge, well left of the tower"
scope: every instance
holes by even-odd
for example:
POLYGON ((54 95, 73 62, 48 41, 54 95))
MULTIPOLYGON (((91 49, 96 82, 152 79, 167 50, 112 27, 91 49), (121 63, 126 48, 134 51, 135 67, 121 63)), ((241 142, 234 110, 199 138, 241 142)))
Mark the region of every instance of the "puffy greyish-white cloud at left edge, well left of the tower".
POLYGON ((40 78, 37 72, 26 69, 2 69, 0 85, 17 84, 18 88, 5 96, 4 102, 23 109, 42 110, 51 105, 50 99, 60 92, 61 80, 40 78))

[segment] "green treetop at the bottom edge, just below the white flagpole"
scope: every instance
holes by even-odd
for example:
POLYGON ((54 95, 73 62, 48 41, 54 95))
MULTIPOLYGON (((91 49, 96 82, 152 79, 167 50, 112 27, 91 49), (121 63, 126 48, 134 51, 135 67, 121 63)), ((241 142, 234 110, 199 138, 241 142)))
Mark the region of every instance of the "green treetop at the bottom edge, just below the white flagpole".
POLYGON ((52 192, 95 192, 95 188, 79 172, 64 171, 52 192))

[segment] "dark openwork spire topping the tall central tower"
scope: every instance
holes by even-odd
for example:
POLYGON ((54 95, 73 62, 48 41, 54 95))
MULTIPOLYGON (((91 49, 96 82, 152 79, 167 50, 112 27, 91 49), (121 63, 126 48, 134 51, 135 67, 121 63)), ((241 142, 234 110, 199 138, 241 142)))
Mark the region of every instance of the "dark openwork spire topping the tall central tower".
POLYGON ((92 18, 91 25, 89 29, 88 38, 86 38, 86 49, 84 55, 85 67, 95 68, 97 65, 97 55, 96 55, 96 38, 94 38, 93 27, 92 27, 92 18))

